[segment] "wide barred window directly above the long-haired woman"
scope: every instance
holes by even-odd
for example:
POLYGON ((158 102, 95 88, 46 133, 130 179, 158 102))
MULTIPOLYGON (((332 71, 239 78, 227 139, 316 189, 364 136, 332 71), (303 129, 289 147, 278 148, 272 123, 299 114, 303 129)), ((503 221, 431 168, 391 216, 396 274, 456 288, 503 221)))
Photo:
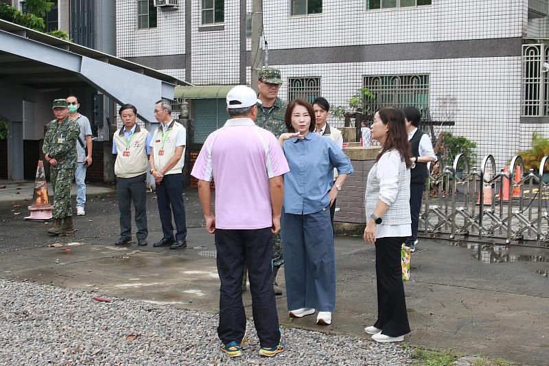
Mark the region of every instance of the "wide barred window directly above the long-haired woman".
POLYGON ((364 100, 365 115, 372 115, 382 106, 414 106, 421 115, 428 115, 428 75, 364 76, 364 87, 373 94, 373 98, 364 100))

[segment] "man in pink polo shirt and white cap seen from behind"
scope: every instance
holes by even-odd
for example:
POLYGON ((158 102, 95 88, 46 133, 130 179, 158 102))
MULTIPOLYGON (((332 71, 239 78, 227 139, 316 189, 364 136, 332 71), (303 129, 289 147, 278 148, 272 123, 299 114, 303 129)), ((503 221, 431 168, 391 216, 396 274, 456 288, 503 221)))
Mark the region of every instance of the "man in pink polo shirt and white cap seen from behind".
POLYGON ((248 264, 255 329, 262 356, 283 352, 277 304, 272 288, 272 234, 280 230, 282 174, 288 172, 279 142, 255 126, 255 92, 242 85, 226 98, 231 119, 206 139, 191 172, 206 229, 215 233, 221 280, 218 334, 228 356, 242 354, 246 332, 242 276, 248 264), (215 177, 215 216, 211 211, 210 181, 215 177))

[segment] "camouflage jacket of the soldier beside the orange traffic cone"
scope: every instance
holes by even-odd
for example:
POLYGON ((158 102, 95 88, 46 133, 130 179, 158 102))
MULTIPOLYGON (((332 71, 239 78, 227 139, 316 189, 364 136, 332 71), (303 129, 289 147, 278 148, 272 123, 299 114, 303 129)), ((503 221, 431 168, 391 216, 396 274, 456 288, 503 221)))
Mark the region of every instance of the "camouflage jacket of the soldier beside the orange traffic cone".
POLYGON ((80 126, 69 117, 61 124, 57 119, 50 121, 44 136, 44 154, 56 159, 62 167, 76 168, 76 139, 79 134, 80 126))

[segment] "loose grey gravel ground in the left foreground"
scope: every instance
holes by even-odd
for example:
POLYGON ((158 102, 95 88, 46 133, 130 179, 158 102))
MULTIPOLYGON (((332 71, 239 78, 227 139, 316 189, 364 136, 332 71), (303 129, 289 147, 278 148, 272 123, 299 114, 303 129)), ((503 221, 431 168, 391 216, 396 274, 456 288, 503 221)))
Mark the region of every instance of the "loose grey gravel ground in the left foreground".
POLYGON ((218 349, 217 314, 0 279, 0 365, 408 365, 410 350, 352 336, 284 329, 286 351, 257 354, 248 321, 243 356, 218 349))

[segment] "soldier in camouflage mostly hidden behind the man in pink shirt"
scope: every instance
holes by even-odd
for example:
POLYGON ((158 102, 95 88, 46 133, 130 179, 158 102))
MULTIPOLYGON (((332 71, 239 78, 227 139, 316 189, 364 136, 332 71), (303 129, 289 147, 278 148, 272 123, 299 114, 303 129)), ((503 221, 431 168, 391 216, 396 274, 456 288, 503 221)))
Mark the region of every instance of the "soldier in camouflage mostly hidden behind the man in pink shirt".
MULTIPOLYGON (((257 87, 259 88, 258 99, 263 104, 257 104, 255 124, 270 131, 277 138, 288 132, 285 124, 286 103, 278 97, 281 84, 282 76, 279 69, 266 67, 259 71, 259 81, 257 81, 257 87)), ((282 264, 284 264, 284 258, 279 233, 274 236, 272 254, 274 293, 277 295, 282 295, 282 290, 277 284, 277 273, 282 264)))

